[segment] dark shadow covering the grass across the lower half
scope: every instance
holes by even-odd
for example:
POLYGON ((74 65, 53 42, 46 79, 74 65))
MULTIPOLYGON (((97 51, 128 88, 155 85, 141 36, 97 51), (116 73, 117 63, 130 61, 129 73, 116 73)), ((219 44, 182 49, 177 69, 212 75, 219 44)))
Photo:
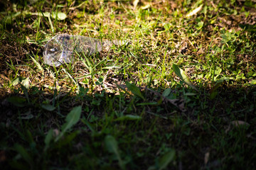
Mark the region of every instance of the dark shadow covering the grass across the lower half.
POLYGON ((172 168, 254 167, 255 87, 221 86, 213 100, 207 92, 182 95, 189 91, 181 91, 186 107, 183 112, 148 91, 142 91, 146 101, 103 91, 93 96, 87 91, 78 95, 47 94, 36 89, 27 95, 6 92, 1 98, 0 164, 4 169, 39 165, 43 169, 119 169, 117 155, 105 149, 104 139, 112 135, 127 169, 157 167, 164 153, 173 148, 176 157, 171 160, 172 168), (49 130, 58 135, 75 106, 82 106, 80 121, 46 149, 49 130), (234 120, 240 120, 240 125, 234 120))

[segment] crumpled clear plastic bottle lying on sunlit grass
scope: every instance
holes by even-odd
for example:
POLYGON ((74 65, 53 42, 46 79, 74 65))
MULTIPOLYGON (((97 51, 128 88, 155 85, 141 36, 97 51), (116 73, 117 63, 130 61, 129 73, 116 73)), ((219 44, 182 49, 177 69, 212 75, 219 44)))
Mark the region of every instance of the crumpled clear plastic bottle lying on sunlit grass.
POLYGON ((43 62, 58 67, 61 64, 73 62, 75 51, 92 55, 102 50, 110 50, 112 45, 124 45, 125 43, 119 40, 99 40, 82 35, 59 34, 46 43, 43 50, 43 62))

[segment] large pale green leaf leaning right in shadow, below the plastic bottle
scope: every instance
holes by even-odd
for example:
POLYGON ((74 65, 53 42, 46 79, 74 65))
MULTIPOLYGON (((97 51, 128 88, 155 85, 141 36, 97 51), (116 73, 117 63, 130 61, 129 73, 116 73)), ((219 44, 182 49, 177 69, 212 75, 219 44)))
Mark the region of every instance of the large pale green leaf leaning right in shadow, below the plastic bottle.
POLYGON ((61 127, 62 131, 60 132, 60 135, 58 135, 55 138, 55 142, 57 142, 60 139, 60 137, 63 137, 65 132, 69 130, 73 125, 78 123, 78 121, 80 120, 81 113, 82 113, 82 106, 75 107, 72 109, 72 111, 70 111, 70 113, 68 113, 67 117, 65 118, 66 123, 62 125, 61 127))

